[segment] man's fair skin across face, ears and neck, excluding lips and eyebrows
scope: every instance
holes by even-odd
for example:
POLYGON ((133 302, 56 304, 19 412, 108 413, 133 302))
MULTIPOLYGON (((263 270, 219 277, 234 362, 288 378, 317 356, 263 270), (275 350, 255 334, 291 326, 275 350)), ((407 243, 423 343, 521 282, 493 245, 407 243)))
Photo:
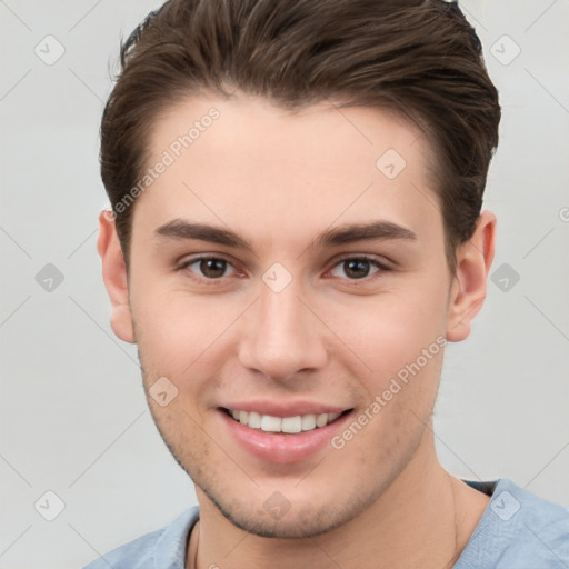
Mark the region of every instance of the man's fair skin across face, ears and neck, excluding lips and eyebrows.
POLYGON ((468 337, 495 216, 481 213, 450 274, 428 142, 377 109, 292 114, 252 97, 193 97, 156 122, 150 162, 212 106, 220 118, 136 202, 128 278, 104 212, 98 241, 114 333, 138 345, 147 391, 160 377, 178 389, 166 407, 148 402, 197 487, 188 567, 451 567, 489 499, 435 452, 442 349, 342 449, 299 462, 251 456, 218 407, 303 398, 363 412, 436 338, 468 337), (376 167, 390 148, 407 162, 393 180, 376 167), (253 250, 154 236, 180 218, 230 229, 253 250), (309 247, 330 227, 379 219, 417 240, 309 247), (199 262, 177 270, 199 253, 229 261, 224 273, 208 280, 199 262), (355 278, 342 261, 361 254, 391 270, 370 263, 355 278), (278 293, 262 280, 274 262, 292 279, 278 293), (290 505, 278 520, 263 509, 276 491, 290 505))

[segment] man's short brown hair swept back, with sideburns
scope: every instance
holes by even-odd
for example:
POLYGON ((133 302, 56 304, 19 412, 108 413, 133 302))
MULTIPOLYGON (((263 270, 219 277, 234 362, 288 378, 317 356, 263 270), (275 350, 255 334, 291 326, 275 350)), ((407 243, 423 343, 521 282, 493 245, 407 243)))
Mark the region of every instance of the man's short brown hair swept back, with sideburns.
MULTIPOLYGON (((236 89, 288 110, 325 100, 395 110, 427 134, 451 272, 498 146, 498 91, 473 28, 443 0, 169 0, 121 44, 101 123, 101 177, 129 264, 150 129, 192 93, 236 89)), ((378 157, 379 158, 379 157, 378 157)))

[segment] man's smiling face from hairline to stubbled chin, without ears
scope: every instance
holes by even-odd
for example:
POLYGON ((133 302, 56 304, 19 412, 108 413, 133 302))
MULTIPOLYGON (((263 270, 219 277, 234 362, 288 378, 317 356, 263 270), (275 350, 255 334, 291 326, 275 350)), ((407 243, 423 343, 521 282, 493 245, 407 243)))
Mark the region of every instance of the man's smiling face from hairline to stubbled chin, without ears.
POLYGON ((173 160, 133 210, 124 318, 161 436, 247 531, 353 519, 427 445, 439 382, 452 279, 426 140, 373 109, 192 98, 150 149, 173 160))

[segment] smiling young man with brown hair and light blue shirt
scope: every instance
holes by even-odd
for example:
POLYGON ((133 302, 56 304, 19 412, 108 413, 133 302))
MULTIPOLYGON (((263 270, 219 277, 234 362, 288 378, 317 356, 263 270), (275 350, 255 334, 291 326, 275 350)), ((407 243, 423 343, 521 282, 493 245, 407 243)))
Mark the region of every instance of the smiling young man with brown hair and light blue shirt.
POLYGON ((88 566, 549 568, 569 512, 437 460, 500 107, 441 0, 170 0, 101 128, 111 325, 199 508, 88 566))

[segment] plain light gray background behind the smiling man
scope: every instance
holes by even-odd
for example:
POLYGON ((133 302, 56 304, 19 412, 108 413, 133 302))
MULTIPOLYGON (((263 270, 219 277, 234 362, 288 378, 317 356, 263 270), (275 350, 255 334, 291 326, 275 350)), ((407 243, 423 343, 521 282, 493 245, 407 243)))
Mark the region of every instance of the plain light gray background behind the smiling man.
MULTIPOLYGON (((0 0, 1 568, 79 568, 196 503, 136 348, 110 329, 96 250, 109 69, 159 4, 0 0), (52 66, 34 52, 49 34, 64 48, 52 66), (64 277, 52 291, 36 280, 47 263, 64 277), (53 521, 34 509, 48 490, 64 502, 53 521)), ((490 280, 472 335, 447 349, 438 449, 457 476, 509 477, 569 506, 569 0, 461 6, 503 108, 485 203, 492 273, 507 263, 520 279, 490 280)))

